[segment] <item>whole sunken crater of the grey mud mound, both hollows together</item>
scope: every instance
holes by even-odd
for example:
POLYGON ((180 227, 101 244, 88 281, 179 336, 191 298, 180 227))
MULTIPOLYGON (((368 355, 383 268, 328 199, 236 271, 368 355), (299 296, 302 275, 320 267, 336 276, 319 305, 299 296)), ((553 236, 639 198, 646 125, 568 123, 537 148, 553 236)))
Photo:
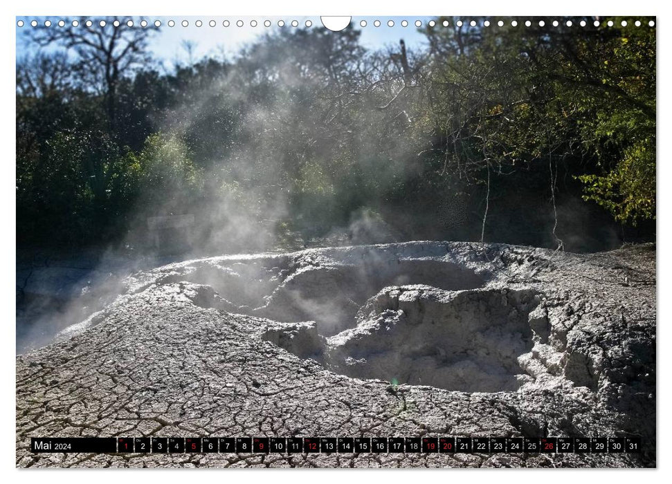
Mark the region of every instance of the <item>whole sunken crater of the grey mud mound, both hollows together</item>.
POLYGON ((541 299, 534 290, 484 288, 489 276, 436 259, 387 259, 292 271, 238 263, 199 268, 188 279, 216 289, 197 304, 270 319, 264 339, 330 371, 515 391, 532 380, 518 359, 541 333, 530 321, 541 299))

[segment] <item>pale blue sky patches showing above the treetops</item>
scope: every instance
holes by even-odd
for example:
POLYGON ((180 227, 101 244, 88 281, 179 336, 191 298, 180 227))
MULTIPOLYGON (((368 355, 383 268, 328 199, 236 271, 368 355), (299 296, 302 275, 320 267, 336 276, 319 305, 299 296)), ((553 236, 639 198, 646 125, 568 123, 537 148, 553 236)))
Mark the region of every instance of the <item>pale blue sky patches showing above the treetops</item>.
MULTIPOLYGON (((52 22, 49 28, 58 28, 56 24, 60 19, 60 17, 17 17, 17 21, 24 21, 24 26, 16 29, 17 55, 33 48, 26 42, 24 33, 32 28, 31 21, 35 20, 43 25, 46 20, 49 20, 52 22)), ((105 17, 91 17, 94 24, 101 19, 105 17)), ((149 50, 166 66, 172 65, 176 60, 181 62, 187 60, 183 41, 194 43, 194 59, 208 55, 219 57, 222 52, 230 57, 235 55, 242 46, 263 35, 264 32, 279 28, 293 29, 294 27, 291 26, 293 20, 298 22, 297 28, 305 26, 307 21, 311 22, 314 27, 322 26, 320 17, 146 17, 146 19, 151 24, 154 21, 161 22, 157 35, 154 35, 149 44, 149 50), (175 22, 173 27, 168 26, 170 20, 175 22), (188 22, 188 26, 182 26, 184 20, 188 22), (198 20, 202 22, 200 27, 196 25, 198 20), (229 21, 228 27, 223 25, 225 20, 229 21), (239 20, 243 22, 242 27, 237 26, 239 20), (257 22, 256 26, 251 26, 253 20, 257 22), (282 27, 278 26, 278 21, 281 20, 284 21, 282 27), (210 21, 215 21, 214 27, 210 26, 210 21), (271 26, 264 26, 264 21, 270 21, 271 26)), ((424 45, 425 42, 424 36, 417 31, 415 26, 418 20, 426 24, 429 17, 352 17, 351 24, 362 30, 361 43, 367 48, 381 48, 389 44, 398 45, 399 39, 402 38, 406 41, 406 46, 414 48, 424 45), (378 27, 374 25, 376 20, 380 21, 378 27), (394 26, 388 26, 390 20, 394 22, 394 26), (402 25, 403 20, 408 21, 405 27, 402 25), (366 22, 365 27, 361 26, 361 21, 366 22)))

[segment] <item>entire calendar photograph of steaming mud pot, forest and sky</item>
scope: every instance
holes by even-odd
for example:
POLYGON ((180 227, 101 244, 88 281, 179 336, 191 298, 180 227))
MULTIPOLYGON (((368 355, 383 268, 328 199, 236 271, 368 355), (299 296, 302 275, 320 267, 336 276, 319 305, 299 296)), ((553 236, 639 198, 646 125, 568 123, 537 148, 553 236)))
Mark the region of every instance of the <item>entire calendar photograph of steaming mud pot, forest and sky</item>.
POLYGON ((655 467, 655 19, 342 27, 17 18, 17 467, 655 467))

